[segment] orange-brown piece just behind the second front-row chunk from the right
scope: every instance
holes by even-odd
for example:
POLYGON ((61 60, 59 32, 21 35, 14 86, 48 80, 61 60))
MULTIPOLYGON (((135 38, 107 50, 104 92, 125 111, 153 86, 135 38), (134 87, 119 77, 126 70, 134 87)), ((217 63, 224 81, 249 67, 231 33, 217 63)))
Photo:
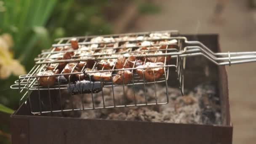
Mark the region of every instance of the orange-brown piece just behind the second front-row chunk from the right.
POLYGON ((125 57, 120 57, 117 59, 117 63, 115 64, 116 69, 124 68, 132 68, 134 61, 136 61, 135 56, 129 56, 127 59, 125 57), (126 63, 125 63, 126 61, 126 63))

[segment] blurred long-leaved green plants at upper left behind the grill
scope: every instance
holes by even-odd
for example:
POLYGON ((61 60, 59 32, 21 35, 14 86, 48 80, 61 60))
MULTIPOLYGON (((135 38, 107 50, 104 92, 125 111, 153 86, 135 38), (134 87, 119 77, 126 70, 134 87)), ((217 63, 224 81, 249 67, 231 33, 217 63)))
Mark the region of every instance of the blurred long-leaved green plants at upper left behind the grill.
MULTIPOLYGON (((13 57, 28 72, 37 54, 50 48, 57 37, 110 33, 111 26, 101 12, 107 3, 107 0, 0 0, 0 35, 11 34, 13 57)), ((11 75, 0 79, 0 103, 12 109, 19 107, 18 93, 10 89, 17 78, 11 75)), ((1 128, 2 125, 0 130, 6 130, 1 128)))

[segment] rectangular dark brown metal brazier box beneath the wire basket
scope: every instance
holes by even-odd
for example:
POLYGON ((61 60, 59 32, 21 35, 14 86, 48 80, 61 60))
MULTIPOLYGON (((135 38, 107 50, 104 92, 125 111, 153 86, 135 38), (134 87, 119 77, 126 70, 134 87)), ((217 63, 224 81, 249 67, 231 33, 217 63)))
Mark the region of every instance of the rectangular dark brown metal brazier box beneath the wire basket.
MULTIPOLYGON (((213 52, 220 52, 218 35, 182 36, 187 37, 187 40, 198 40, 204 43, 213 52)), ((39 112, 40 115, 33 115, 31 104, 35 100, 38 101, 38 91, 32 91, 29 95, 31 101, 22 102, 19 109, 11 115, 12 142, 13 144, 164 144, 170 142, 232 144, 226 69, 224 66, 216 66, 211 61, 195 61, 195 58, 186 58, 184 86, 188 89, 193 88, 194 85, 205 80, 210 80, 217 85, 221 99, 221 125, 95 120, 56 115, 53 117, 51 112, 40 112, 38 106, 34 106, 34 112, 39 112), (205 67, 209 69, 208 76, 205 72, 198 70, 205 67)), ((205 58, 202 57, 202 59, 205 58)), ((229 59, 227 60, 229 63, 229 59)), ((177 86, 177 83, 171 80, 172 76, 175 75, 168 76, 168 86, 177 86)), ((47 91, 40 94, 47 94, 47 91)))

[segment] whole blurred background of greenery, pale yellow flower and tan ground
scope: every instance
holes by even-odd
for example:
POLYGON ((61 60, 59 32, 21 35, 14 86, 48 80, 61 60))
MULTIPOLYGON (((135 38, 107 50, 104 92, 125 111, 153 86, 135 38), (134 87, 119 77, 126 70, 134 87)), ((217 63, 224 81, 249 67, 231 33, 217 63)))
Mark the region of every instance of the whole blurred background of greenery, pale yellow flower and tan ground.
MULTIPOLYGON (((0 143, 19 107, 10 85, 57 37, 177 29, 217 33, 222 51, 256 51, 256 0, 0 0, 0 143)), ((256 64, 227 67, 234 144, 256 141, 256 64)))

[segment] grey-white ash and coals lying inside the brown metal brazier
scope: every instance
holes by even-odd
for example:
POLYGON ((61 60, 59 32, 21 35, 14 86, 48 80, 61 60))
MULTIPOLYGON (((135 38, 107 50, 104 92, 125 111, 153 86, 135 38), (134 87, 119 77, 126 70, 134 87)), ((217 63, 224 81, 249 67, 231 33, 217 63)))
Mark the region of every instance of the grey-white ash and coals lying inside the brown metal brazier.
MULTIPOLYGON (((104 88, 105 106, 113 105, 112 88, 104 88)), ((115 104, 134 104, 133 88, 115 87, 115 104)), ((169 103, 163 105, 151 105, 145 107, 106 108, 78 111, 76 114, 81 118, 108 119, 108 120, 130 120, 165 123, 190 123, 190 124, 221 124, 220 100, 216 95, 216 88, 211 84, 201 84, 181 96, 179 88, 168 88, 169 103)), ((157 85, 157 101, 166 102, 166 88, 157 85)), ((148 103, 155 102, 155 87, 146 88, 148 103)), ((82 107, 81 96, 73 96, 73 106, 82 107)), ((136 90, 137 104, 144 104, 144 88, 136 90)), ((94 105, 103 106, 102 93, 93 96, 94 105)), ((70 108, 70 102, 65 107, 70 108)), ((83 95, 84 107, 92 107, 91 94, 83 95)))

